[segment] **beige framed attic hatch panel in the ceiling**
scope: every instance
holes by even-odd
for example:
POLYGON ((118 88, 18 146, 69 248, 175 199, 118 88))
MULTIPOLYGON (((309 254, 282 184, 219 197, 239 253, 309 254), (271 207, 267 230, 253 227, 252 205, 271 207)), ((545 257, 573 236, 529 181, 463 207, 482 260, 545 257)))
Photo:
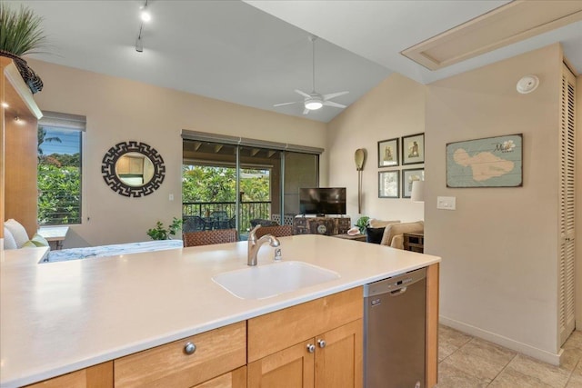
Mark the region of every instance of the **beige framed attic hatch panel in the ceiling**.
POLYGON ((400 54, 429 70, 438 70, 580 20, 580 1, 517 0, 400 54))

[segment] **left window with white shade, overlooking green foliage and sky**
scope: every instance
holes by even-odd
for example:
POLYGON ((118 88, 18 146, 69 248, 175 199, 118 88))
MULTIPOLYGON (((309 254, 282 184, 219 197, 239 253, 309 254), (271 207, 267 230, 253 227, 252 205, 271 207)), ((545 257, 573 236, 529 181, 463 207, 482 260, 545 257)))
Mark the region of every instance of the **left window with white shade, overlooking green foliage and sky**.
POLYGON ((81 224, 85 117, 44 114, 38 122, 38 224, 81 224))

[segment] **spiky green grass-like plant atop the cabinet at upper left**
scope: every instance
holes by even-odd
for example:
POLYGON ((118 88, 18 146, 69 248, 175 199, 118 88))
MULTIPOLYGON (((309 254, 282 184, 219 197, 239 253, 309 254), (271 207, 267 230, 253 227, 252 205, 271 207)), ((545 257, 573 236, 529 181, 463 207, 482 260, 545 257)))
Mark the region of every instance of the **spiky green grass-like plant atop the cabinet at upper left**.
POLYGON ((46 35, 41 26, 43 18, 24 5, 18 11, 0 2, 0 55, 11 58, 32 93, 43 89, 43 81, 21 57, 40 53, 46 35))

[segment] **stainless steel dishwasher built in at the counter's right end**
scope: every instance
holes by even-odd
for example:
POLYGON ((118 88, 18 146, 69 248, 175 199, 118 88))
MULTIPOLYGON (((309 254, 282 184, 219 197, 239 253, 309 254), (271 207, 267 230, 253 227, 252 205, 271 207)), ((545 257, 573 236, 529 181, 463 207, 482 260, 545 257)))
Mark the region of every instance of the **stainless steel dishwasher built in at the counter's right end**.
POLYGON ((364 286, 364 386, 425 388, 426 268, 364 286))

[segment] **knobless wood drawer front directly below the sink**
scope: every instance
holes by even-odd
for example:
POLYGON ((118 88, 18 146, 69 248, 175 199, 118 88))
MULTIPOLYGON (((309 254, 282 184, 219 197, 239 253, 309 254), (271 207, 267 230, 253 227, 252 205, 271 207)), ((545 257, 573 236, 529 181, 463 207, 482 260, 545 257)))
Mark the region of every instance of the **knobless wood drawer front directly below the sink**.
POLYGON ((362 318, 362 287, 248 320, 248 362, 362 318))

